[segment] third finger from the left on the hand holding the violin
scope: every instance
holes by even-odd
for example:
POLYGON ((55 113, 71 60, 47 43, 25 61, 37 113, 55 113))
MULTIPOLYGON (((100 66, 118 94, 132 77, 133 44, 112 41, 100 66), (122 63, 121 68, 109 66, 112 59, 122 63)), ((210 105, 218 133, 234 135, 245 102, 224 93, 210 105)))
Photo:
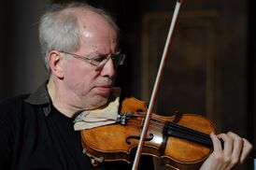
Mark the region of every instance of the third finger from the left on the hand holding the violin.
POLYGON ((235 164, 240 163, 244 141, 239 135, 236 135, 232 132, 227 133, 227 135, 233 139, 233 153, 231 165, 234 166, 235 164))

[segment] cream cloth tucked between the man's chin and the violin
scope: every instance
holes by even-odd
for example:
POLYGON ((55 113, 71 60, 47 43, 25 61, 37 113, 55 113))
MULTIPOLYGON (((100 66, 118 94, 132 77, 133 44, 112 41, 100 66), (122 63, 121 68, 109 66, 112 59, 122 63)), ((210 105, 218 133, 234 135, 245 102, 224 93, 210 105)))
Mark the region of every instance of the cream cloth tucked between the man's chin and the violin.
POLYGON ((82 111, 75 119, 75 131, 115 123, 118 118, 120 94, 120 88, 112 88, 105 107, 82 111))

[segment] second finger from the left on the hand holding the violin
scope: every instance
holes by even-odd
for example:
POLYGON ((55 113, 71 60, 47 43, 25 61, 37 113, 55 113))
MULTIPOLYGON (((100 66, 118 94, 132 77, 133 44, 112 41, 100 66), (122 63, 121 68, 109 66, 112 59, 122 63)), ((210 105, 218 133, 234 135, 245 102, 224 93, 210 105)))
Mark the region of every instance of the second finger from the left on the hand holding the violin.
POLYGON ((220 134, 218 137, 224 141, 223 161, 228 165, 232 160, 233 139, 226 134, 220 134))

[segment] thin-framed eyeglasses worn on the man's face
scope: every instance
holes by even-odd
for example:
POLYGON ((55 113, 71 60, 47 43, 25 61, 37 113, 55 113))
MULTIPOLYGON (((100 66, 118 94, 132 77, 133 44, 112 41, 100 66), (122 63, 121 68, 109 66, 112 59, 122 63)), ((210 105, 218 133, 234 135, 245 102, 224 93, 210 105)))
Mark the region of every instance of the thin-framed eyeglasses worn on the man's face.
POLYGON ((120 53, 115 53, 112 55, 108 55, 107 57, 105 55, 102 56, 96 56, 96 57, 84 57, 84 56, 80 56, 78 54, 74 54, 74 53, 70 53, 70 52, 66 52, 64 50, 60 51, 63 52, 65 54, 69 54, 71 56, 73 56, 74 58, 78 58, 80 60, 83 60, 89 64, 92 64, 94 66, 96 66, 97 68, 102 68, 104 67, 105 64, 107 64, 107 61, 111 58, 111 60, 113 61, 113 64, 115 66, 121 65, 124 63, 124 59, 125 59, 125 54, 120 54, 120 53))

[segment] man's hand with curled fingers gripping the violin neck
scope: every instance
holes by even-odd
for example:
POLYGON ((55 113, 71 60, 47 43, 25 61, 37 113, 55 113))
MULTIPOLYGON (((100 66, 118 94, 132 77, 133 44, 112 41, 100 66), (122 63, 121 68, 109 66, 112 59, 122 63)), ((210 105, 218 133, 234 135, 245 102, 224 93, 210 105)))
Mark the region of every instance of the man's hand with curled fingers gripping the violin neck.
POLYGON ((210 135, 213 142, 213 152, 206 159, 200 170, 226 170, 236 164, 241 164, 249 155, 252 145, 245 138, 241 138, 232 132, 220 135, 210 135), (224 141, 224 149, 220 140, 224 141))

